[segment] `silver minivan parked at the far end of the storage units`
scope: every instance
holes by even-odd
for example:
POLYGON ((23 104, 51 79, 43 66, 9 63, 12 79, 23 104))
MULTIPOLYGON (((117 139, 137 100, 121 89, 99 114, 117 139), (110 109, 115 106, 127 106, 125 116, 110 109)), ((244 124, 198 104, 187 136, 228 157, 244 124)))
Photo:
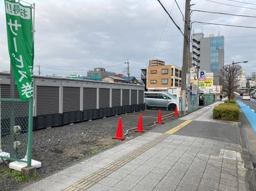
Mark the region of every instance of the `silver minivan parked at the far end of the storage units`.
POLYGON ((149 108, 168 108, 175 111, 177 98, 168 92, 145 92, 146 109, 149 108))

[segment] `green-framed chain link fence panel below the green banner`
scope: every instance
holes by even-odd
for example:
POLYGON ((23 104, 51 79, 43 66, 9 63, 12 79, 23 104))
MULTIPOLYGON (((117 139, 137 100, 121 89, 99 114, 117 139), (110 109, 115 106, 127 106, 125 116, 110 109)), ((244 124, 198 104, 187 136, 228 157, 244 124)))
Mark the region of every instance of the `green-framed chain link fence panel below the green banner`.
POLYGON ((0 158, 28 163, 29 107, 29 101, 0 99, 0 158))

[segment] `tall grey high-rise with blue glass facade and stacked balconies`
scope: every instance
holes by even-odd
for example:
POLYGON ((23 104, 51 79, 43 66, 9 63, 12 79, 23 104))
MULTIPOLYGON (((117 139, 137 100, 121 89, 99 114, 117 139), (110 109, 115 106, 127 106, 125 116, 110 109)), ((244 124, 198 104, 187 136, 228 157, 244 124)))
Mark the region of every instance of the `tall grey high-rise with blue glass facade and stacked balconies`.
POLYGON ((201 71, 213 73, 213 85, 219 85, 219 72, 224 66, 224 36, 204 37, 203 33, 192 35, 192 65, 201 71))

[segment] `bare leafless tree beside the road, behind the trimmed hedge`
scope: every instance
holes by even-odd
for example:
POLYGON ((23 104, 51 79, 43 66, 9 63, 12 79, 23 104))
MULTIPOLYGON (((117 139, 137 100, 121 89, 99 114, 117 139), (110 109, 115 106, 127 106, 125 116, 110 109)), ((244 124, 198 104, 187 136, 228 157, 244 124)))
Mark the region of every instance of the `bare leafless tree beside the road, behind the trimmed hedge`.
POLYGON ((242 66, 237 64, 228 64, 221 68, 220 75, 223 79, 223 86, 228 94, 228 103, 233 98, 233 93, 240 81, 241 69, 242 66))

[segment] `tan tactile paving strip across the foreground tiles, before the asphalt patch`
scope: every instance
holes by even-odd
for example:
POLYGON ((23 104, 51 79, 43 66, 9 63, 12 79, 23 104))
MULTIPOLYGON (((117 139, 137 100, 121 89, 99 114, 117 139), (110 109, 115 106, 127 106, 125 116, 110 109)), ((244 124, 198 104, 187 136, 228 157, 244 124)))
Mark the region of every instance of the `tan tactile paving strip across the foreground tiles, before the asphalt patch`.
POLYGON ((138 157, 140 154, 144 153, 146 150, 150 149, 154 145, 158 144, 160 141, 168 137, 169 134, 162 134, 158 138, 155 138, 154 140, 146 143, 145 145, 142 145, 138 149, 135 149, 134 151, 130 152, 124 157, 121 157, 118 160, 115 160, 113 163, 107 165, 106 167, 96 171, 95 173, 91 174, 90 176, 85 177, 83 180, 80 180, 79 182, 71 185, 70 187, 67 187, 64 191, 84 191, 87 188, 93 186, 95 183, 99 182, 106 176, 110 175, 112 172, 117 170, 118 168, 121 168, 123 165, 127 164, 134 158, 138 157))

